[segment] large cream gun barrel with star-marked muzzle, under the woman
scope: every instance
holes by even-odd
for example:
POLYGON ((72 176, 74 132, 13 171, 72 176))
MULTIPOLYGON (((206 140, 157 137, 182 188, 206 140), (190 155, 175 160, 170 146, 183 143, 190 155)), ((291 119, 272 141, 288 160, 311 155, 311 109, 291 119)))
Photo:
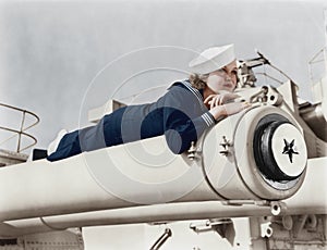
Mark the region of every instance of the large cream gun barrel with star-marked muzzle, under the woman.
POLYGON ((300 188, 306 147, 291 114, 254 105, 218 123, 187 153, 165 137, 0 168, 0 221, 141 204, 281 200, 300 188))

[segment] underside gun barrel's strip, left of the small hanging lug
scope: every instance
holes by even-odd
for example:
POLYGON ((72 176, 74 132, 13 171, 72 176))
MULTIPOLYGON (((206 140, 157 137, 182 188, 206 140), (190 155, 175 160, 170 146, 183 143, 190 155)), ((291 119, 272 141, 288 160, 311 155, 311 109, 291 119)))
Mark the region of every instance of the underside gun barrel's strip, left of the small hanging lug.
POLYGON ((0 236, 17 237, 24 234, 62 230, 70 227, 169 223, 173 221, 264 216, 269 214, 269 207, 254 204, 242 207, 225 205, 219 201, 179 202, 7 221, 2 223, 2 227, 0 224, 0 236))

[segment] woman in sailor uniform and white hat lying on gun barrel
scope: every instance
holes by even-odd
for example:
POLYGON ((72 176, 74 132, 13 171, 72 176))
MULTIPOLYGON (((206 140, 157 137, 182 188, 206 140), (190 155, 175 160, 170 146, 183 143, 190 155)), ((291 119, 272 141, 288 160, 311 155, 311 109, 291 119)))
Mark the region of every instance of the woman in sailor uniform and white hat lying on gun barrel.
POLYGON ((238 80, 232 45, 205 50, 190 67, 194 72, 190 79, 174 83, 156 102, 121 108, 105 115, 96 126, 64 135, 48 160, 160 135, 179 154, 217 121, 249 107, 230 102, 238 97, 232 93, 238 80))

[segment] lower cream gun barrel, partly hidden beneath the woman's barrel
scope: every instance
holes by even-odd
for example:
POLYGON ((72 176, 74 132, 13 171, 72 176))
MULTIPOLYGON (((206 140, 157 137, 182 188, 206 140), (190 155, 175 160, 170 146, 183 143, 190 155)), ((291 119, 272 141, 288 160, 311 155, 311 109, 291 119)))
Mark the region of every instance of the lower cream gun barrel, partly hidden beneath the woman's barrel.
MULTIPOLYGON (((326 214, 326 196, 313 196, 312 190, 323 193, 327 186, 327 158, 312 159, 302 188, 284 201, 281 215, 326 214), (325 188, 325 189, 322 189, 325 188), (307 202, 310 200, 311 202, 307 202)), ((220 201, 177 202, 154 205, 110 209, 101 211, 61 214, 44 217, 11 220, 0 223, 0 236, 17 237, 24 234, 36 234, 62 230, 70 227, 104 226, 136 223, 169 223, 186 220, 209 220, 219 217, 269 216, 270 208, 244 202, 244 205, 226 205, 220 201)))

